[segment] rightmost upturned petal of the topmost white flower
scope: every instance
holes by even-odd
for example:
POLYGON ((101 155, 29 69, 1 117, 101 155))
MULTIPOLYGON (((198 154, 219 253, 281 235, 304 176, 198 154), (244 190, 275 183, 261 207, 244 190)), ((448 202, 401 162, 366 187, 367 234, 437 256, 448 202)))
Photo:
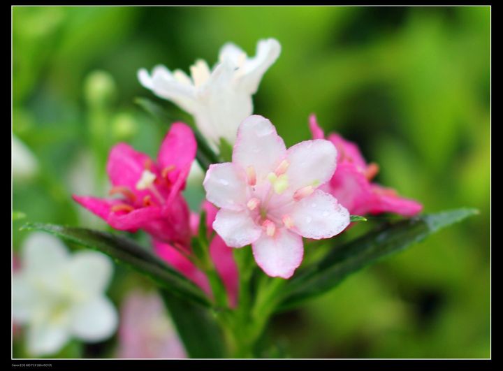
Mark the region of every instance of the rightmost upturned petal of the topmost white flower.
POLYGON ((265 71, 276 61, 281 52, 281 45, 274 38, 258 41, 256 55, 247 59, 242 66, 243 75, 240 78, 241 89, 249 94, 255 94, 265 71))

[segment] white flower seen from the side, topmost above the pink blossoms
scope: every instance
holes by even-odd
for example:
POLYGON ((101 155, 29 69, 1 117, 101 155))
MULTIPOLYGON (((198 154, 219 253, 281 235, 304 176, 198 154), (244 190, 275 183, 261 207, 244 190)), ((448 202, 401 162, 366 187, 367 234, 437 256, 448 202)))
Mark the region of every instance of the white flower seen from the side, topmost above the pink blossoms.
POLYGON ((193 115, 198 129, 214 147, 220 138, 233 144, 239 124, 253 110, 251 96, 280 52, 281 45, 274 38, 258 41, 252 58, 237 45, 227 43, 212 70, 199 59, 190 68, 191 77, 159 65, 152 74, 140 69, 138 79, 157 96, 193 115))

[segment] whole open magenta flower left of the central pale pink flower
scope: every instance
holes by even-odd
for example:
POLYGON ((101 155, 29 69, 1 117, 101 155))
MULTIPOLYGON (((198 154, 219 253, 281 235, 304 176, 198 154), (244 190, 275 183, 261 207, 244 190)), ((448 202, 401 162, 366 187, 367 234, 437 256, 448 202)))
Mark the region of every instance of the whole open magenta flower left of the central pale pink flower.
POLYGON ((194 133, 186 124, 175 123, 161 144, 156 162, 125 143, 112 148, 107 163, 113 186, 110 195, 120 198, 73 198, 115 229, 143 229, 157 240, 187 247, 191 235, 189 208, 180 191, 194 157, 194 133))

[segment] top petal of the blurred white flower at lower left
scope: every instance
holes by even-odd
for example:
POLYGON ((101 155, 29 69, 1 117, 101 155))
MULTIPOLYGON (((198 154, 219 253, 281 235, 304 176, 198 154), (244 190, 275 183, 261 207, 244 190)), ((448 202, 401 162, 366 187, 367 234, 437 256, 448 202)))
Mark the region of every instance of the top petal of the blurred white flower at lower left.
POLYGON ((59 238, 44 232, 31 233, 22 245, 23 269, 29 275, 54 272, 69 259, 68 250, 59 238))

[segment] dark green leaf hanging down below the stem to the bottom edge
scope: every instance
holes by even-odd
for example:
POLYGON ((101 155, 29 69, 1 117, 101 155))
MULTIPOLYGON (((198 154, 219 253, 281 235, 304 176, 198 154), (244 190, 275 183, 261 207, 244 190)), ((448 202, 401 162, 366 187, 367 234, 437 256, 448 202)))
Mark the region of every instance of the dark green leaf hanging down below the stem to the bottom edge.
POLYGON ((224 358, 224 339, 210 310, 161 291, 178 335, 191 358, 224 358))

